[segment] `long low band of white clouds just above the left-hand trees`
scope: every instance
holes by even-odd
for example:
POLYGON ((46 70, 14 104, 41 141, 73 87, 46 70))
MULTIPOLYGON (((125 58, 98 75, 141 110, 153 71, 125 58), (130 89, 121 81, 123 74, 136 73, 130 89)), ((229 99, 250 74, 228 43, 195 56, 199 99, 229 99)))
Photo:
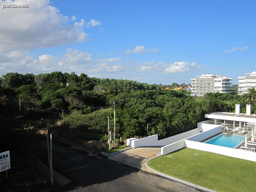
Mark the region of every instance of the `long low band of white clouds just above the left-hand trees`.
POLYGON ((77 49, 67 49, 60 57, 39 55, 33 58, 29 52, 13 51, 0 53, 0 73, 17 71, 18 73, 48 73, 50 71, 66 72, 101 72, 116 73, 122 70, 118 58, 93 59, 91 53, 77 49))

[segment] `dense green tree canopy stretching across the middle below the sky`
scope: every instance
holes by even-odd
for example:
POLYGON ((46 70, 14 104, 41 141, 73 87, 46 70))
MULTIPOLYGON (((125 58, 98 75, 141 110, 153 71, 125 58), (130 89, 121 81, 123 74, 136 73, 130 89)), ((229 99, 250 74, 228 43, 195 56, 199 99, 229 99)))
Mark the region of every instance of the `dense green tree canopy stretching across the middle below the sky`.
MULTIPOLYGON (((15 115, 20 98, 22 114, 42 111, 58 114, 63 110, 66 123, 62 126, 66 136, 76 134, 81 140, 108 139, 107 117, 113 117, 113 102, 116 136, 124 138, 152 134, 169 137, 195 128, 197 122, 204 120, 205 113, 234 112, 236 103, 240 103, 241 112, 245 112, 246 105, 238 95, 208 93, 203 98, 194 98, 185 90, 164 90, 162 85, 90 78, 74 72, 56 71, 36 76, 6 73, 0 83, 2 109, 15 115)), ((172 87, 177 86, 172 83, 172 87)), ((256 112, 255 105, 252 112, 256 112)))

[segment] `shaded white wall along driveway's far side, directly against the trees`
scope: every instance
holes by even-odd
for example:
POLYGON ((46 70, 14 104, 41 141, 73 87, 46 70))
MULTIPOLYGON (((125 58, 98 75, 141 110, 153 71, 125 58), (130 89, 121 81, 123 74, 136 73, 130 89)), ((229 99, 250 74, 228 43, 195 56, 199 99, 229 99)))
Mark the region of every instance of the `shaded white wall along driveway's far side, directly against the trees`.
MULTIPOLYGON (((191 137, 192 135, 200 133, 198 128, 192 129, 190 131, 186 131, 181 134, 177 134, 171 137, 167 137, 162 140, 158 140, 158 135, 151 135, 149 137, 144 137, 137 140, 131 140, 132 147, 145 147, 145 146, 165 146, 169 145, 170 143, 175 143, 179 140, 183 140, 185 138, 191 137)), ((129 141, 130 142, 130 141, 129 141)), ((127 144, 128 145, 128 144, 127 144)))

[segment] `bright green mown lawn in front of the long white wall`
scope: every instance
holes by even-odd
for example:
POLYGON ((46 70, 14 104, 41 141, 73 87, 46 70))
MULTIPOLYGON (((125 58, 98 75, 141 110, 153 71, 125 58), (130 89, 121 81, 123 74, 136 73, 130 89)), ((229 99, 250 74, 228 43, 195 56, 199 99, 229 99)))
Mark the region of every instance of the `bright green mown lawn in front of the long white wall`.
POLYGON ((148 165, 159 172, 218 192, 255 190, 256 162, 253 161, 184 148, 153 159, 148 165))

